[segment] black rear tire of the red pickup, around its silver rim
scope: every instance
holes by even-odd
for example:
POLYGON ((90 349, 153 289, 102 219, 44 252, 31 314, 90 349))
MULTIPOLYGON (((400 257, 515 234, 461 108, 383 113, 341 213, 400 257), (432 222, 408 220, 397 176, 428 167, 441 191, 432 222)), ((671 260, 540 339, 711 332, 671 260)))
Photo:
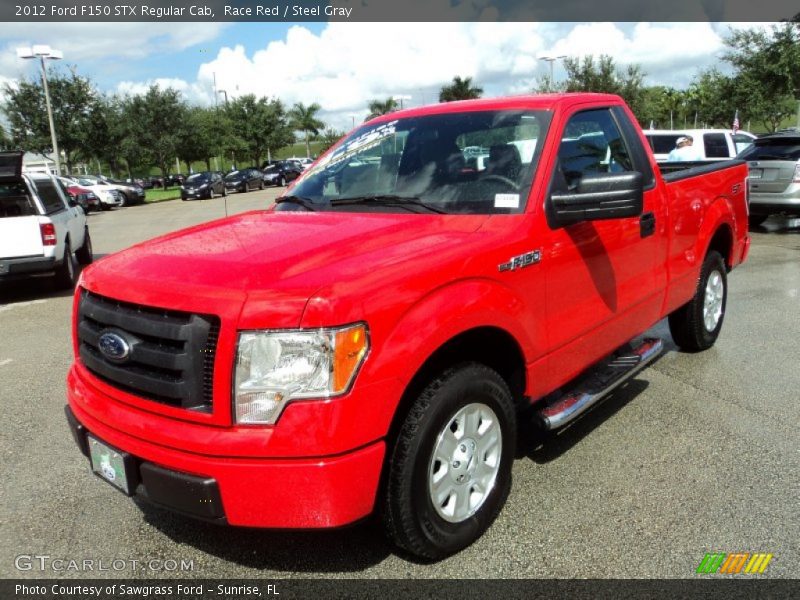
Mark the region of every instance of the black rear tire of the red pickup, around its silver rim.
MULTIPOLYGON (((712 286, 713 287, 713 286, 712 286)), ((718 294, 717 294, 718 296, 718 294)), ((669 331, 672 339, 683 350, 699 352, 714 345, 725 320, 725 306, 728 302, 728 277, 725 261, 716 250, 711 250, 703 261, 697 289, 692 299, 669 315, 669 331), (722 285, 722 304, 713 329, 709 329, 704 318, 706 294, 709 280, 719 277, 722 285)), ((715 311, 709 311, 715 312, 715 311)))

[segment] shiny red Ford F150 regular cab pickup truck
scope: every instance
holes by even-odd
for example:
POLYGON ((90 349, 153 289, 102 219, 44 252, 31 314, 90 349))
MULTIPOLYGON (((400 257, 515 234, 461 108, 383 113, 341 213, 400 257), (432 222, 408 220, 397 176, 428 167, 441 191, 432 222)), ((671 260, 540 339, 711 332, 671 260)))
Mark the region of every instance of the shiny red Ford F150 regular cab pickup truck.
POLYGON ((67 418, 128 495, 230 525, 377 512, 427 559, 477 539, 518 426, 555 429, 660 352, 714 344, 747 167, 663 175, 623 101, 391 113, 274 207, 139 244, 75 292, 67 418))

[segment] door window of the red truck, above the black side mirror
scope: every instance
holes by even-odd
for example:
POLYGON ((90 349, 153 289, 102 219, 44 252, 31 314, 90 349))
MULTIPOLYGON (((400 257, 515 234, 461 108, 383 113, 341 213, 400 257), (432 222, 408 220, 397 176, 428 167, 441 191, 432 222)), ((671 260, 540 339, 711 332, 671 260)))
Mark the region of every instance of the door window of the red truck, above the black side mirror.
POLYGON ((630 152, 608 109, 570 118, 558 149, 558 171, 568 188, 585 175, 633 170, 630 152))

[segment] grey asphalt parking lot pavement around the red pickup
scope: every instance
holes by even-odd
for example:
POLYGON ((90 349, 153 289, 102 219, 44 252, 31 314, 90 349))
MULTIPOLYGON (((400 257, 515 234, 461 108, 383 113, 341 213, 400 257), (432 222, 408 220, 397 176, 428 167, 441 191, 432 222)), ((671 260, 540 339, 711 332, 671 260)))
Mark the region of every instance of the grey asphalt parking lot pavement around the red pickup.
MULTIPOLYGON (((228 210, 264 207, 276 193, 232 195, 228 210)), ((222 199, 174 201, 90 223, 107 254, 222 216, 222 199)), ((772 218, 753 232, 714 348, 678 352, 659 323, 665 355, 567 430, 530 438, 495 525, 433 565, 394 554, 372 522, 221 528, 140 509, 98 480, 63 414, 70 305, 46 283, 0 288, 1 577, 690 578, 706 552, 773 553, 764 576, 800 576, 800 221, 772 218), (128 562, 121 572, 15 568, 36 554, 128 562), (141 570, 150 559, 192 569, 141 570)))

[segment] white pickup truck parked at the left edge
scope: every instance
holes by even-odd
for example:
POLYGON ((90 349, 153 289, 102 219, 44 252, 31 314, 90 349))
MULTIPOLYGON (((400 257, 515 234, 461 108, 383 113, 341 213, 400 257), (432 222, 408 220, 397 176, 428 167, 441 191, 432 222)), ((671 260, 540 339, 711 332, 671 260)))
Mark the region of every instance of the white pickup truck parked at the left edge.
POLYGON ((23 174, 22 152, 0 152, 0 282, 52 274, 72 288, 91 262, 83 209, 55 177, 23 174))

